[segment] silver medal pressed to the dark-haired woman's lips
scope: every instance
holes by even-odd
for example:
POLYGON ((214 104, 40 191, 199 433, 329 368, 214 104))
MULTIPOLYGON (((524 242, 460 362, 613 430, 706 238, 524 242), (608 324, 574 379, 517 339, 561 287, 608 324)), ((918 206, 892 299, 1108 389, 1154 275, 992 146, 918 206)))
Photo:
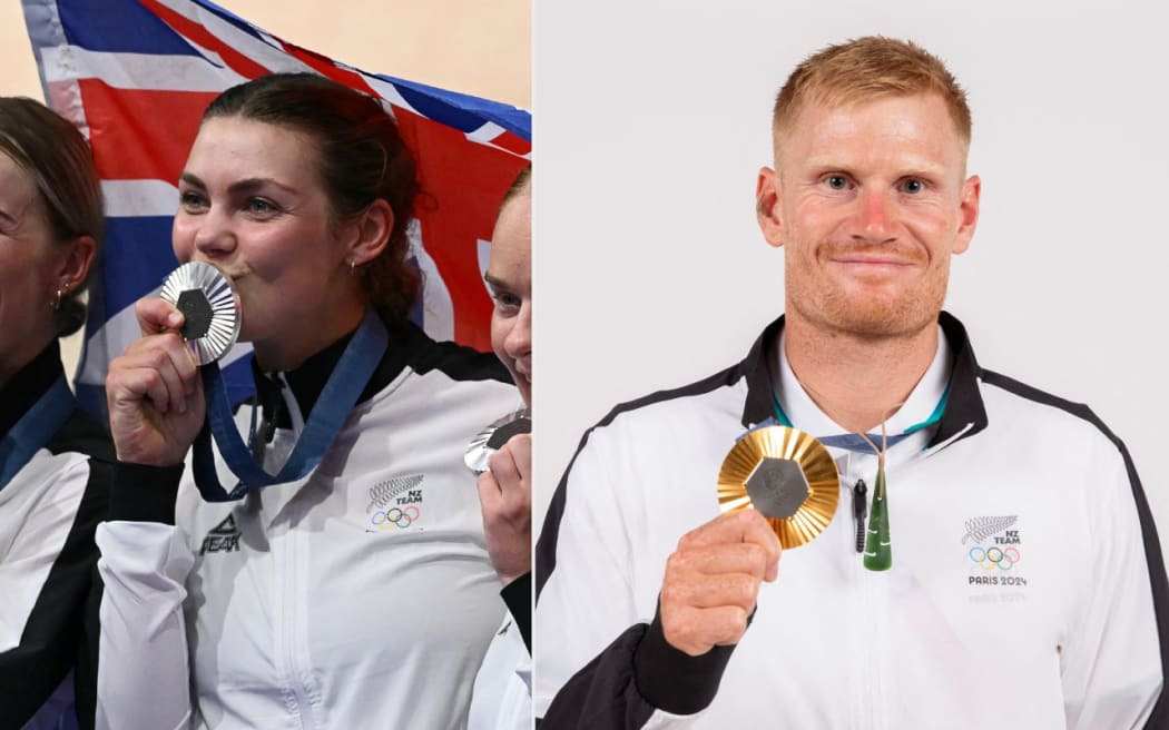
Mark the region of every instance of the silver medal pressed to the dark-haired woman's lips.
POLYGON ((159 297, 182 312, 182 339, 200 366, 219 360, 240 335, 235 290, 220 270, 191 262, 171 272, 159 297))

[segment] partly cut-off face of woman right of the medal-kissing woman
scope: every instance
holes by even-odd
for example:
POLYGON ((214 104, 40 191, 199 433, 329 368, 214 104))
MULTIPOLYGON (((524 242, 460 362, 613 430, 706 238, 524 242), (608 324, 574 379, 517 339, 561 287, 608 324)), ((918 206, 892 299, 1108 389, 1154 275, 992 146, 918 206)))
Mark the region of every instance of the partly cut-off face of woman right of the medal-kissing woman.
POLYGON ((532 404, 532 194, 509 202, 496 221, 487 263, 496 306, 491 347, 512 374, 524 403, 532 404))

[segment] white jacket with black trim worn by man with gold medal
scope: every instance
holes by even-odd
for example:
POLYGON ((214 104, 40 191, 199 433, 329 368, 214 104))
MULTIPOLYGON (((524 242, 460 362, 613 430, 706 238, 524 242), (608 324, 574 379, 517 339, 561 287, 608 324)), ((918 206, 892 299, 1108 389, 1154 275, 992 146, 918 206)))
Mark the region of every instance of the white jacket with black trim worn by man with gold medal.
POLYGON ((927 418, 948 383, 940 422, 888 453, 892 569, 856 549, 852 488, 871 500, 876 457, 830 449, 836 516, 783 552, 734 647, 673 649, 658 591, 678 538, 718 516, 719 466, 774 415, 775 383, 795 427, 841 432, 779 375, 782 318, 743 362, 584 436, 537 548, 545 730, 1167 726, 1169 595, 1128 453, 1086 406, 982 369, 957 320, 940 325, 946 354, 890 424, 927 418))

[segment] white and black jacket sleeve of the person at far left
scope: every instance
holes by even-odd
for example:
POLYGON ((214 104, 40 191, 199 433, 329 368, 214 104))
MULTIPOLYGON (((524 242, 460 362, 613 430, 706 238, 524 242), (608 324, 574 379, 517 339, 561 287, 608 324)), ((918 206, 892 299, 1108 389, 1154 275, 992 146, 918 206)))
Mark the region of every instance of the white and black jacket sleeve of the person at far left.
MULTIPOLYGON (((74 666, 82 641, 97 559, 94 529, 105 510, 109 472, 78 454, 69 458, 74 463, 54 475, 47 499, 21 517, 0 563, 0 625, 19 635, 0 651, 0 729, 21 728, 37 714, 74 666), (28 577, 42 570, 35 591, 25 590, 28 577)), ((83 714, 81 726, 92 726, 92 715, 83 714)))

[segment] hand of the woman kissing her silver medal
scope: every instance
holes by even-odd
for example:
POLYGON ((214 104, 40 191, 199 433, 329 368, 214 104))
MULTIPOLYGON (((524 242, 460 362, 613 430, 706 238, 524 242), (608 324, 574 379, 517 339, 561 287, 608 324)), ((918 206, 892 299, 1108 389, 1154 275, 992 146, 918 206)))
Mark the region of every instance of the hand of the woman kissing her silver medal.
POLYGON ((161 299, 134 305, 143 336, 110 363, 105 395, 118 459, 181 464, 203 425, 202 378, 180 331, 182 313, 161 299))

